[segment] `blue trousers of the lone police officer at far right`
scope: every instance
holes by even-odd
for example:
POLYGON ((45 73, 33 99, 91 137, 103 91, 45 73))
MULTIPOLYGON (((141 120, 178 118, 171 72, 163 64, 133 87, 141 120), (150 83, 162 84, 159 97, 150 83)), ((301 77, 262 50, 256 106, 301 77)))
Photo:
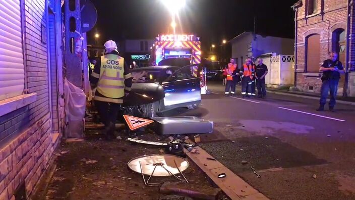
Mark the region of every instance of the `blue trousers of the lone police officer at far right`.
POLYGON ((338 83, 338 79, 324 80, 322 82, 321 99, 319 101, 319 104, 325 105, 327 103, 328 91, 330 90, 329 107, 335 106, 335 97, 336 93, 338 92, 338 83))

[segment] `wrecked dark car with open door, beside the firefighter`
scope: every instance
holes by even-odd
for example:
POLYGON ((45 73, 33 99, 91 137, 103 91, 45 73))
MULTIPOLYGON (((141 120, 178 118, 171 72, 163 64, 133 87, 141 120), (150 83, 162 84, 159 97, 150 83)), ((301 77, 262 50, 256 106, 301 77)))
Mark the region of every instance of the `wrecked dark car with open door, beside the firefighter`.
POLYGON ((201 88, 200 77, 192 72, 195 66, 132 69, 132 91, 124 98, 124 113, 150 118, 174 108, 198 108, 201 88))

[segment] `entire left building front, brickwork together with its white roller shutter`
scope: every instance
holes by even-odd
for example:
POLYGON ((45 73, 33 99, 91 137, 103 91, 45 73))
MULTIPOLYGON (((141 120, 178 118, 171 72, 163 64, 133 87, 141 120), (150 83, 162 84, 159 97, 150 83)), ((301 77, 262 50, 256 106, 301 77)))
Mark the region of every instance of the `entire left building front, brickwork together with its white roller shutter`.
POLYGON ((27 198, 33 192, 61 137, 64 114, 61 1, 3 0, 0 7, 0 52, 5 52, 0 55, 3 200, 24 192, 27 198), (7 60, 19 57, 23 59, 16 65, 7 60), (15 94, 12 88, 21 91, 15 94))

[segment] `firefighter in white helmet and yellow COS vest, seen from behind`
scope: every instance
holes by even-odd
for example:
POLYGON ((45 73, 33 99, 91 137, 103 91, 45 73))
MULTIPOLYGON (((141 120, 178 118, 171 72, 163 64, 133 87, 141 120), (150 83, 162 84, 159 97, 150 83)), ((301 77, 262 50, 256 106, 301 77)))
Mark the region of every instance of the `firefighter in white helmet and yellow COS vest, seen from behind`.
POLYGON ((110 140, 123 97, 131 90, 132 75, 124 58, 119 56, 116 42, 108 40, 104 46, 105 54, 97 60, 90 78, 92 86, 97 86, 95 106, 105 125, 106 138, 110 140))

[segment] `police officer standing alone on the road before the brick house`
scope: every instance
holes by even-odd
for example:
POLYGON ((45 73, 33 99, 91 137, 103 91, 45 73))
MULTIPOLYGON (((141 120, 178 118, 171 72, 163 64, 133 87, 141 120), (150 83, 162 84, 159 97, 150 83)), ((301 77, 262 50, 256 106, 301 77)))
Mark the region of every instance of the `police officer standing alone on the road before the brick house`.
POLYGON ((343 65, 338 61, 338 53, 332 52, 330 59, 325 60, 319 71, 323 72, 321 99, 319 101, 319 108, 317 111, 324 111, 324 105, 327 102, 328 91, 330 90, 329 111, 334 112, 335 97, 338 91, 338 83, 340 74, 344 73, 343 65))

